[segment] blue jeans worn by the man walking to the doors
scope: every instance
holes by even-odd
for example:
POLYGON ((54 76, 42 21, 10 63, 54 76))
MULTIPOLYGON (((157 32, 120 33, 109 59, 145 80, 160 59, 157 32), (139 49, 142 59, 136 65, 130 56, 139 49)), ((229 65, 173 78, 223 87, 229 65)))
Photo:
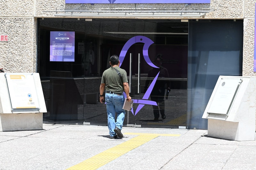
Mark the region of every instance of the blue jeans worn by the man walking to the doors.
POLYGON ((123 109, 124 105, 124 96, 105 93, 105 101, 107 107, 107 114, 108 114, 108 129, 109 135, 116 136, 114 129, 117 127, 118 129, 122 129, 125 117, 125 110, 123 109), (116 121, 115 121, 115 116, 116 121))

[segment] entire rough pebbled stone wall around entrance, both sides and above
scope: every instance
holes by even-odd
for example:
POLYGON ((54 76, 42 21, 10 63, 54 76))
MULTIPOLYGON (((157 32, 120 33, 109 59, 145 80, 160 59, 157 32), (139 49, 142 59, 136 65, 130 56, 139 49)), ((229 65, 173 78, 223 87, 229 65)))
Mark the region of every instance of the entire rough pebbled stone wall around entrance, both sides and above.
MULTIPOLYGON (((79 5, 65 4, 65 0, 2 0, 0 35, 9 35, 9 41, 0 42, 0 68, 5 72, 36 72, 37 18, 53 18, 54 14, 63 13, 56 11, 72 10, 79 5)), ((184 6, 84 4, 78 10, 181 10, 184 6)), ((191 4, 185 10, 214 10, 206 13, 205 19, 244 19, 243 76, 256 76, 253 72, 255 0, 211 0, 211 4, 191 4)))

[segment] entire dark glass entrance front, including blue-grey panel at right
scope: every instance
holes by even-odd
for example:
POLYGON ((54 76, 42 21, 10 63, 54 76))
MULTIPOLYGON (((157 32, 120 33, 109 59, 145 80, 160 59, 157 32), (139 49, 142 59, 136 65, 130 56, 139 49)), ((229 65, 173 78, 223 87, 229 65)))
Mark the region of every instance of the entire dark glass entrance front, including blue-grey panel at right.
POLYGON ((220 28, 226 25, 223 23, 231 23, 231 21, 181 22, 170 19, 85 21, 77 18, 39 18, 37 69, 48 111, 44 113, 44 121, 107 125, 106 106, 99 102, 99 87, 103 71, 110 67, 110 56, 116 54, 120 56, 121 68, 127 72, 130 95, 134 100, 132 111, 126 112, 124 126, 163 128, 183 126, 204 129, 205 123, 200 118, 200 114, 202 117, 201 111, 206 105, 201 106, 200 113, 195 111, 195 107, 199 105, 196 102, 207 104, 210 96, 201 99, 204 100, 203 102, 196 101, 195 98, 201 96, 195 95, 195 91, 200 91, 201 88, 211 95, 218 75, 230 75, 231 72, 241 75, 242 72, 243 41, 239 37, 243 37, 243 30, 239 30, 238 27, 243 28, 243 22, 227 24, 225 29, 220 28), (205 33, 200 31, 202 29, 205 29, 205 33), (52 50, 50 35, 53 31, 75 32, 74 62, 50 61, 50 50, 52 50), (227 44, 229 41, 223 37, 223 43, 213 46, 211 38, 215 37, 215 33, 211 31, 220 32, 221 37, 223 34, 235 41, 229 45, 227 44), (216 50, 210 48, 208 50, 207 43, 216 50), (208 55, 205 55, 206 53, 208 55), (235 58, 230 58, 234 55, 235 58), (208 57, 209 66, 204 72, 204 77, 217 76, 216 80, 210 78, 211 86, 200 84, 203 80, 198 73, 201 75, 201 70, 204 69, 201 65, 204 65, 202 63, 204 61, 198 59, 198 56, 204 60, 208 57), (214 69, 214 64, 220 62, 220 56, 222 56, 221 64, 234 67, 233 70, 226 67, 229 72, 220 71, 220 65, 218 69, 214 69), (223 59, 226 56, 228 58, 223 59), (224 60, 228 62, 223 63, 224 60), (160 117, 155 120, 154 115, 157 114, 160 117), (161 116, 164 114, 165 119, 161 116), (203 123, 191 125, 193 120, 203 123))

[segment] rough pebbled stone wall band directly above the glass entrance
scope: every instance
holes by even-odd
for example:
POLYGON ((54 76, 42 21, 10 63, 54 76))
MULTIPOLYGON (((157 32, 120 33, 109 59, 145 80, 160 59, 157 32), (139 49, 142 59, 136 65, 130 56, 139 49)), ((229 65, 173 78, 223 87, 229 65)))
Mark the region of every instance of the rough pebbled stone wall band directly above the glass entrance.
MULTIPOLYGON (((81 4, 65 4, 65 0, 36 1, 36 17, 54 17, 56 12, 73 10, 81 4)), ((181 10, 185 4, 83 4, 83 6, 76 10, 181 10)), ((216 19, 230 19, 244 17, 244 1, 236 0, 212 0, 211 4, 190 4, 184 10, 214 10, 214 12, 207 13, 204 18, 216 19)), ((57 12, 62 13, 62 12, 57 12)))

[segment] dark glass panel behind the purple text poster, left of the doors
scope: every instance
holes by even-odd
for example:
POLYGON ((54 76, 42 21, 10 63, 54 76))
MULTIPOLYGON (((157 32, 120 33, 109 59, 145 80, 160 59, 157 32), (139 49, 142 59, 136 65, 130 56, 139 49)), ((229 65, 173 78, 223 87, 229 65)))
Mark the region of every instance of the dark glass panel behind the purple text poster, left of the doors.
MULTIPOLYGON (((83 120, 84 106, 84 61, 85 50, 85 22, 77 19, 44 18, 38 19, 38 64, 47 113, 44 121, 77 122, 83 120), (63 38, 64 33, 75 32, 74 42, 58 42, 50 47, 51 32, 60 32, 54 38, 63 38), (62 35, 63 33, 63 35, 62 35), (71 44, 71 45, 70 45, 71 44), (63 57, 71 50, 75 61, 50 61, 50 50, 65 52, 63 57), (54 49, 55 48, 55 49, 54 49)), ((70 53, 71 53, 70 52, 70 53)), ((96 66, 97 68, 97 66, 96 66)))

